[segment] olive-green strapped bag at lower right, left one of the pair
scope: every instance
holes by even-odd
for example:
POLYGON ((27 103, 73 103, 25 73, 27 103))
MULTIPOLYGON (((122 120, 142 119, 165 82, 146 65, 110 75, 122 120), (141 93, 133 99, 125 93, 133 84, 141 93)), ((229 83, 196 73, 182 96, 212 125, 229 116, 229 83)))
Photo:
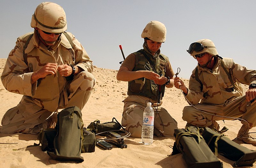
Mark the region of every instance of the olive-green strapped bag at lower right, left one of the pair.
POLYGON ((212 153, 198 127, 186 127, 175 129, 174 136, 176 145, 172 155, 182 153, 188 168, 222 168, 220 160, 212 153), (177 150, 178 149, 178 150, 177 150))

